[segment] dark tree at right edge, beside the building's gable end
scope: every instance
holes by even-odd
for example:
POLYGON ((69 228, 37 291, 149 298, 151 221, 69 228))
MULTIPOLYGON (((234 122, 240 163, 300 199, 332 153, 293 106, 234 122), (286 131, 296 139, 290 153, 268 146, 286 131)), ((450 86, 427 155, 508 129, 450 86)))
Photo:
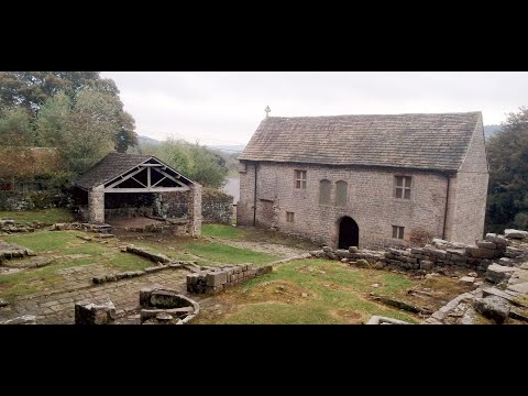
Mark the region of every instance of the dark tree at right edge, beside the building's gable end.
POLYGON ((486 145, 490 163, 487 229, 528 229, 528 109, 508 114, 486 145))

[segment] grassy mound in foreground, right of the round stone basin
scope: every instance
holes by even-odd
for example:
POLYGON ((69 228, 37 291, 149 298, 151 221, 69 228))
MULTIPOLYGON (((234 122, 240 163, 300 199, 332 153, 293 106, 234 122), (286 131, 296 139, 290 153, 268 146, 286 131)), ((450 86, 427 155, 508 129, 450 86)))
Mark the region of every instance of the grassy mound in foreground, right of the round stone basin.
POLYGON ((202 310, 196 323, 361 323, 373 315, 416 323, 418 317, 369 299, 370 292, 405 293, 416 283, 340 262, 299 260, 218 295, 223 314, 202 310))

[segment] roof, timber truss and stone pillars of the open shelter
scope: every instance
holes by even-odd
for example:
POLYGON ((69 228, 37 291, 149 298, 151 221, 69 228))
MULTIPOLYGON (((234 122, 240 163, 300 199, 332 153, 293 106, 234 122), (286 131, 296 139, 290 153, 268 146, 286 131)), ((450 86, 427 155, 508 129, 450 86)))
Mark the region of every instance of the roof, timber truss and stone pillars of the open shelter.
POLYGON ((201 232, 201 186, 152 155, 110 153, 74 184, 88 193, 88 221, 105 222, 106 194, 187 193, 188 232, 201 232))

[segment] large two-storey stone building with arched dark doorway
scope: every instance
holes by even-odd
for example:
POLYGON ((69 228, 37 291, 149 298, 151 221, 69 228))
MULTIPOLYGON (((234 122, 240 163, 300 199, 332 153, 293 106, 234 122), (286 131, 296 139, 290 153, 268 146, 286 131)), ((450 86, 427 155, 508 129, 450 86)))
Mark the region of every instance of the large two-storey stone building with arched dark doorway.
POLYGON ((483 237, 481 112, 268 117, 239 161, 242 226, 338 248, 483 237))

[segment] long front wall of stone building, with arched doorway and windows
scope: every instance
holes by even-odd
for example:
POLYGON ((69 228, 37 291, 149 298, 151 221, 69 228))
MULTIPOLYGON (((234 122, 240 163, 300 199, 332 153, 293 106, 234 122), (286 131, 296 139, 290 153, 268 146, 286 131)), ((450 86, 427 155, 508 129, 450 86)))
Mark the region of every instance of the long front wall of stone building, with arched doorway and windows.
MULTIPOLYGON (((253 224, 255 167, 242 162, 238 223, 253 224), (245 172, 244 172, 245 166, 245 172)), ((256 212, 258 221, 283 232, 298 234, 330 246, 338 244, 339 221, 355 220, 360 246, 402 246, 411 235, 441 238, 446 209, 447 178, 427 172, 389 172, 361 167, 328 167, 261 163, 257 168, 256 212), (295 169, 307 170, 306 190, 295 188, 295 169), (411 199, 394 198, 395 176, 411 176, 411 199), (331 182, 331 205, 319 205, 319 183, 331 182), (336 183, 348 183, 344 207, 337 207, 336 183), (286 212, 294 212, 288 222, 286 212), (405 227, 405 239, 393 239, 393 226, 405 227)))

